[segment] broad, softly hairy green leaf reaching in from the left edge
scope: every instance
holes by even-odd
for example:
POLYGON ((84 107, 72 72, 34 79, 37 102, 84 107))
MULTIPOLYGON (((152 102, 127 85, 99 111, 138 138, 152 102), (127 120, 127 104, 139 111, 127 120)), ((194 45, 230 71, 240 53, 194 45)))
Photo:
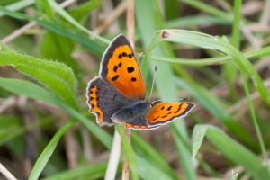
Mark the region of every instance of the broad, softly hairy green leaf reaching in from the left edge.
POLYGON ((0 66, 13 66, 44 85, 63 102, 78 108, 76 78, 70 67, 57 61, 43 60, 16 52, 0 44, 0 66))

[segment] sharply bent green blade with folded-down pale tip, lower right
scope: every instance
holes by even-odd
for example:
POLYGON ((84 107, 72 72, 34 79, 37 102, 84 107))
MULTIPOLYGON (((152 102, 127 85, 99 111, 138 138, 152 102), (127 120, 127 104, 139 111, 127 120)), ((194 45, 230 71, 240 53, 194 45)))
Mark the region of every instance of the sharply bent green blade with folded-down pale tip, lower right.
POLYGON ((229 138, 221 130, 210 125, 196 125, 193 130, 193 157, 202 145, 204 136, 236 165, 244 166, 247 173, 255 179, 269 179, 266 166, 247 148, 229 138), (226 147, 226 148, 224 148, 226 147))

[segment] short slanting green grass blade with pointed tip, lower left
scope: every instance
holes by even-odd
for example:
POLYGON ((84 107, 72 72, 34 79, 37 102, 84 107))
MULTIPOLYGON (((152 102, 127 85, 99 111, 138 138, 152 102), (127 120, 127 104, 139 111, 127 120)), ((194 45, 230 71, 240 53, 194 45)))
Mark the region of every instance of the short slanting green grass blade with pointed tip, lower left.
POLYGON ((43 168, 46 166, 46 164, 49 161, 49 157, 51 157, 53 151, 58 145, 59 139, 65 134, 65 132, 71 128, 76 121, 67 121, 59 130, 58 132, 53 136, 53 138, 49 141, 49 144, 46 148, 42 151, 39 158, 37 159, 35 165, 33 166, 31 170, 31 174, 29 176, 29 180, 36 180, 39 179, 39 176, 43 170, 43 168))

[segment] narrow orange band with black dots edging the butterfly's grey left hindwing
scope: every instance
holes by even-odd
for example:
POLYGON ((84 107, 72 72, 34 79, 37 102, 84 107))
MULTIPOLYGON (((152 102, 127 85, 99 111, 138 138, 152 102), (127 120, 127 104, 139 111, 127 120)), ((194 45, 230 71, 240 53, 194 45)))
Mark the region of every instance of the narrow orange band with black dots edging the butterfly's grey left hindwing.
POLYGON ((96 114, 97 121, 98 121, 98 123, 101 124, 103 122, 103 111, 97 105, 96 90, 97 90, 96 86, 89 89, 89 91, 88 91, 89 92, 88 93, 88 104, 90 105, 90 112, 94 112, 94 114, 96 114))

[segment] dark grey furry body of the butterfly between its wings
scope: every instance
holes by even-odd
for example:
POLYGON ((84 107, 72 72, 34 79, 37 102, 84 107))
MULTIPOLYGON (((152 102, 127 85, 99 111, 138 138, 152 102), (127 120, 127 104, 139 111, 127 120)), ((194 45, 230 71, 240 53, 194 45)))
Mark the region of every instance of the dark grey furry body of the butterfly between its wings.
POLYGON ((138 100, 123 106, 120 110, 113 113, 113 122, 131 122, 144 119, 149 111, 151 104, 145 100, 138 100))

